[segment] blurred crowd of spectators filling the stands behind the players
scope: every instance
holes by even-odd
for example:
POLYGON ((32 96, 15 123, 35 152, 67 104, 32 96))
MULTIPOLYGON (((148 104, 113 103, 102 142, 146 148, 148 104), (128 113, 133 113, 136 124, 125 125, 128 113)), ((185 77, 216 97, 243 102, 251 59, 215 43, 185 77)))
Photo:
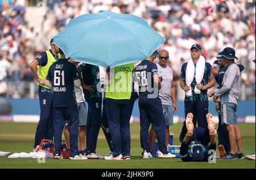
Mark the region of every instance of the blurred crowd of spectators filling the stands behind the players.
POLYGON ((195 43, 210 64, 225 47, 236 49, 245 66, 241 99, 255 100, 255 0, 0 0, 0 96, 37 98, 30 62, 69 20, 105 10, 137 15, 165 37, 160 48, 170 53, 179 100, 181 65, 195 43))

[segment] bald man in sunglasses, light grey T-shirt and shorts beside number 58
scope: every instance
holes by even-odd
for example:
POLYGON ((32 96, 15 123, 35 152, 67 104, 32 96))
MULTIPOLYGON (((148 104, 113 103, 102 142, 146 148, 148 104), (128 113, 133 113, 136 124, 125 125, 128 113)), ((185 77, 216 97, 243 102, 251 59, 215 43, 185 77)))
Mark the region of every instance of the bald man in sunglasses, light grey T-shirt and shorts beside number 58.
MULTIPOLYGON (((169 144, 169 126, 173 124, 174 114, 177 112, 177 104, 175 97, 175 87, 173 83, 172 69, 167 65, 169 60, 169 52, 162 50, 159 52, 158 74, 162 81, 162 88, 159 90, 159 98, 163 106, 163 114, 166 122, 166 146, 169 144)), ((155 140, 155 131, 151 126, 149 132, 150 150, 153 150, 155 140)))

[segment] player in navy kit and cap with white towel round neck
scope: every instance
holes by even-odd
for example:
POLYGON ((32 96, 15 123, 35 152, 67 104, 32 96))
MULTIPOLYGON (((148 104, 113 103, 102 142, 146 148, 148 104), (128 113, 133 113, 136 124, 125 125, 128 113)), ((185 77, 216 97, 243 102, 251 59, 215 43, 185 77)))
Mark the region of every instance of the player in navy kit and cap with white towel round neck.
MULTIPOLYGON (((188 71, 188 62, 185 62, 181 66, 181 73, 180 73, 180 87, 183 89, 186 93, 190 90, 192 90, 191 96, 188 96, 186 94, 185 99, 184 99, 184 106, 185 106, 185 117, 187 117, 188 112, 191 112, 194 116, 193 118, 193 123, 194 126, 196 126, 196 123, 198 124, 199 127, 207 128, 207 119, 206 115, 208 114, 208 96, 207 96, 207 90, 210 87, 214 86, 215 80, 214 77, 210 75, 210 68, 212 66, 208 63, 205 62, 204 69, 197 69, 197 66, 200 64, 200 58, 202 55, 202 48, 199 44, 193 44, 191 46, 191 58, 192 58, 192 63, 195 66, 195 68, 190 69, 191 72, 188 71), (203 74, 203 79, 201 82, 196 81, 196 71, 197 70, 204 70, 203 74), (187 72, 188 71, 188 72, 187 72), (186 74, 189 73, 193 77, 193 81, 191 84, 186 84, 186 79, 190 77, 186 77, 186 74), (196 93, 195 89, 200 90, 200 93, 196 93)), ((185 122, 183 124, 183 128, 181 129, 182 131, 187 131, 185 122)), ((180 136, 180 141, 182 141, 183 138, 180 136)))

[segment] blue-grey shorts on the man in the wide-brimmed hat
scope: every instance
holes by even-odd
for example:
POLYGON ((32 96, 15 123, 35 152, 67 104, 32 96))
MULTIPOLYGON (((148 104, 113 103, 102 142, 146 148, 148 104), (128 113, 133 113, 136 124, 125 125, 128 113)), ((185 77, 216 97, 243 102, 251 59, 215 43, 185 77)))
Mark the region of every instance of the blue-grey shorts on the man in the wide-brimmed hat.
POLYGON ((223 123, 228 125, 237 124, 237 104, 221 104, 221 124, 223 123))

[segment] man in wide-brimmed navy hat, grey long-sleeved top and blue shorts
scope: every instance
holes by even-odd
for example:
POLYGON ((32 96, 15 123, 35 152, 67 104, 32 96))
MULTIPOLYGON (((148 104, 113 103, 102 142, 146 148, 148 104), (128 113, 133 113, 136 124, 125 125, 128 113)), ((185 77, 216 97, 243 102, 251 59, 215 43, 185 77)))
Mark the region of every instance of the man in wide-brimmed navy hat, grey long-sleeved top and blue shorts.
MULTIPOLYGON (((221 123, 226 124, 226 128, 229 132, 230 141, 230 153, 226 157, 222 157, 223 160, 237 159, 243 156, 241 132, 237 125, 237 104, 240 89, 240 69, 234 62, 236 52, 233 48, 225 48, 222 52, 218 53, 225 63, 227 64, 227 70, 222 80, 221 89, 216 89, 209 93, 209 97, 213 95, 215 97, 221 97, 221 123), (236 153, 237 143, 237 153, 236 153)), ((244 157, 244 156, 243 156, 244 157)))

